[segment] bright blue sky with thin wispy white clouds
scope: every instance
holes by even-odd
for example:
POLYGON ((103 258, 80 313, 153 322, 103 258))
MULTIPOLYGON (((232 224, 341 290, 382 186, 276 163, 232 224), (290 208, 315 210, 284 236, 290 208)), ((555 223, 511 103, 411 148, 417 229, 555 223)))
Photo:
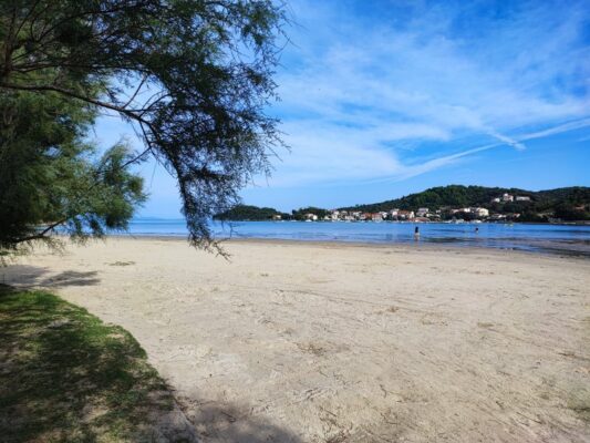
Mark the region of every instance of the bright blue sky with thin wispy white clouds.
MULTIPOLYGON (((449 184, 590 186, 590 0, 287 2, 268 113, 289 150, 245 204, 290 212, 449 184)), ((101 144, 127 137, 103 117, 101 144)), ((174 179, 141 166, 146 217, 178 217, 174 179)))

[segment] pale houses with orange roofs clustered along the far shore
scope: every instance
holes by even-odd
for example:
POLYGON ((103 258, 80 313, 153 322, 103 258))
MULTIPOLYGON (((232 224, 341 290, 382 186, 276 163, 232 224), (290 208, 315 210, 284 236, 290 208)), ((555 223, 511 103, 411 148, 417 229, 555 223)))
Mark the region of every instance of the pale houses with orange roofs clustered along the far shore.
MULTIPOLYGON (((530 202, 529 196, 503 194, 494 197, 490 203, 511 203, 511 202, 530 202)), ((470 207, 442 207, 437 209, 429 209, 427 207, 420 207, 415 210, 393 208, 390 210, 381 210, 375 213, 366 213, 362 210, 345 210, 345 209, 330 209, 330 210, 312 210, 302 214, 306 222, 449 222, 449 223, 482 223, 482 222, 511 222, 517 220, 520 213, 499 214, 493 213, 490 209, 480 206, 470 207)), ((282 220, 283 216, 276 214, 273 220, 282 220)))

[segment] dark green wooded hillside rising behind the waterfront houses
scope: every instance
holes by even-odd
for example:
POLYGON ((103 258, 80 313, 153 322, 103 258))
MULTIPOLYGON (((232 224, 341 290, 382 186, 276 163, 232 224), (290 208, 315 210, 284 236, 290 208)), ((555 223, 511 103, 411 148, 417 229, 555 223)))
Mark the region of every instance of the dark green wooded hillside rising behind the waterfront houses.
POLYGON ((427 207, 429 210, 436 210, 470 206, 485 207, 498 214, 520 213, 524 214, 524 220, 536 220, 540 214, 549 214, 567 220, 586 220, 590 219, 590 187, 576 186, 534 192, 518 188, 449 185, 432 187, 422 193, 392 200, 339 209, 376 213, 394 208, 416 210, 427 207), (494 198, 501 197, 503 194, 530 197, 530 202, 493 203, 494 198))

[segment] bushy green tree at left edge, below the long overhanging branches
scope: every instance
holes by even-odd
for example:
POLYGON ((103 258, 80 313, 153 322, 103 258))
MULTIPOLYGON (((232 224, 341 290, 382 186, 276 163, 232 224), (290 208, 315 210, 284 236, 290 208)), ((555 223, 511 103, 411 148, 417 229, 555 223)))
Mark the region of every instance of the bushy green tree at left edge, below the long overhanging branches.
POLYGON ((125 228, 145 198, 142 178, 123 167, 127 147, 91 161, 87 106, 55 94, 0 97, 0 249, 51 241, 58 226, 76 239, 125 228))

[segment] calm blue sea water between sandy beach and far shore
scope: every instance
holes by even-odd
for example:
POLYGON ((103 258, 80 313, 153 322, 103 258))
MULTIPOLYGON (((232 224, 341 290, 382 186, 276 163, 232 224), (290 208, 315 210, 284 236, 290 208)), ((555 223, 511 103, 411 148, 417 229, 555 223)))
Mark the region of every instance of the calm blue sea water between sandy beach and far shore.
MULTIPOLYGON (((356 241, 414 244, 414 227, 420 243, 464 247, 489 247, 541 253, 579 255, 590 258, 590 226, 528 224, 445 224, 445 223, 344 223, 344 222, 235 222, 213 223, 217 237, 273 238, 314 241, 356 241), (479 230, 476 233, 475 228, 479 230)), ((123 235, 187 235, 184 219, 134 219, 123 235)))

